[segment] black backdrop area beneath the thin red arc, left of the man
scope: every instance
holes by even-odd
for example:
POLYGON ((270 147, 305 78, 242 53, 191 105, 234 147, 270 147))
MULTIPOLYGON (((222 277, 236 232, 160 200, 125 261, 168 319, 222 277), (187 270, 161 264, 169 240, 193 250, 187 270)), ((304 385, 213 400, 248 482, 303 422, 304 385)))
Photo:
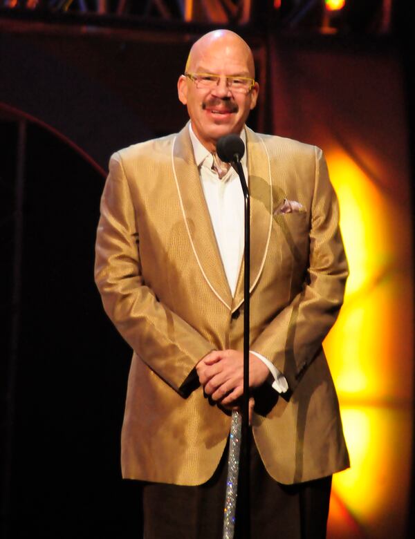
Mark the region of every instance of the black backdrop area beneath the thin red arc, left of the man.
MULTIPOLYGON (((0 146, 10 157, 16 139, 16 124, 0 122, 0 146)), ((15 211, 10 162, 0 160, 8 217, 15 211)), ((139 537, 138 491, 133 482, 121 482, 119 466, 130 352, 103 315, 93 284, 102 177, 36 124, 27 126, 24 176, 17 305, 15 268, 6 264, 13 260, 12 218, 2 264, 3 314, 6 321, 12 308, 19 315, 10 536, 139 537)), ((10 352, 11 324, 6 328, 10 352)), ((1 367, 4 389, 7 359, 1 367)))

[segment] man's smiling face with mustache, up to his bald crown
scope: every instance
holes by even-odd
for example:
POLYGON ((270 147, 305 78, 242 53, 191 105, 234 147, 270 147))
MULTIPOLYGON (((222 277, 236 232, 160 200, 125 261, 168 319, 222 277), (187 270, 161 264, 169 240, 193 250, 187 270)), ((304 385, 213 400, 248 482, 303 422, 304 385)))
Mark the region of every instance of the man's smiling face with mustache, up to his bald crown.
MULTIPOLYGON (((249 49, 230 36, 197 47, 190 56, 187 71, 254 77, 249 49)), ((196 84, 183 75, 178 79, 179 100, 187 105, 196 137, 210 151, 216 148, 217 140, 223 135, 241 132, 250 110, 257 103, 258 90, 255 83, 248 93, 232 91, 223 76, 214 88, 196 88, 196 84)))

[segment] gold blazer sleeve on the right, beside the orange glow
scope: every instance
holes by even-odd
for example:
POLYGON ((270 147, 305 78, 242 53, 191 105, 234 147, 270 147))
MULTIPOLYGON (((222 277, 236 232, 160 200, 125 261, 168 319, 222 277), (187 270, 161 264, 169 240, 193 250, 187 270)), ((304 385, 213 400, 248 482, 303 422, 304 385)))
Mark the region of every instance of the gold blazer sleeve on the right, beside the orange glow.
POLYGON ((310 251, 302 290, 250 348, 283 372, 291 392, 321 352, 322 341, 338 316, 349 274, 339 228, 339 205, 322 151, 315 148, 310 251))

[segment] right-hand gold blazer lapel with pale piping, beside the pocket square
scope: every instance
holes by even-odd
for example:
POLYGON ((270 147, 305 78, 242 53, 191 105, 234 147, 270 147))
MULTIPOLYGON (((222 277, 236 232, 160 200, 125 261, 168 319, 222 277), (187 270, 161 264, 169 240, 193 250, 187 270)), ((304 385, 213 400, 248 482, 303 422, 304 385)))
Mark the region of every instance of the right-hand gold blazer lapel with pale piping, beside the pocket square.
MULTIPOLYGON (((246 128, 248 152, 248 187, 250 191, 250 292, 255 288, 264 267, 273 225, 273 182, 270 158, 264 142, 246 128)), ((237 283, 232 312, 243 303, 244 262, 237 283)))

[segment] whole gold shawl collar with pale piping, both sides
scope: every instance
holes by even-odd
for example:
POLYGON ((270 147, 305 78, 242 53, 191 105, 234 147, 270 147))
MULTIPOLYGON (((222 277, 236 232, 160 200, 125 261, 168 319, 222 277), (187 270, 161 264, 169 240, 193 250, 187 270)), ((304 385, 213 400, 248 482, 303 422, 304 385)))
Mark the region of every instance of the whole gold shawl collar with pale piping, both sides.
MULTIPOLYGON (((251 205, 250 291, 252 292, 264 267, 273 219, 273 200, 269 156, 264 142, 248 128, 246 140, 251 205)), ((243 302, 243 260, 235 296, 232 298, 194 160, 188 124, 174 139, 172 167, 187 234, 203 278, 225 307, 232 311, 237 310, 243 302)))

